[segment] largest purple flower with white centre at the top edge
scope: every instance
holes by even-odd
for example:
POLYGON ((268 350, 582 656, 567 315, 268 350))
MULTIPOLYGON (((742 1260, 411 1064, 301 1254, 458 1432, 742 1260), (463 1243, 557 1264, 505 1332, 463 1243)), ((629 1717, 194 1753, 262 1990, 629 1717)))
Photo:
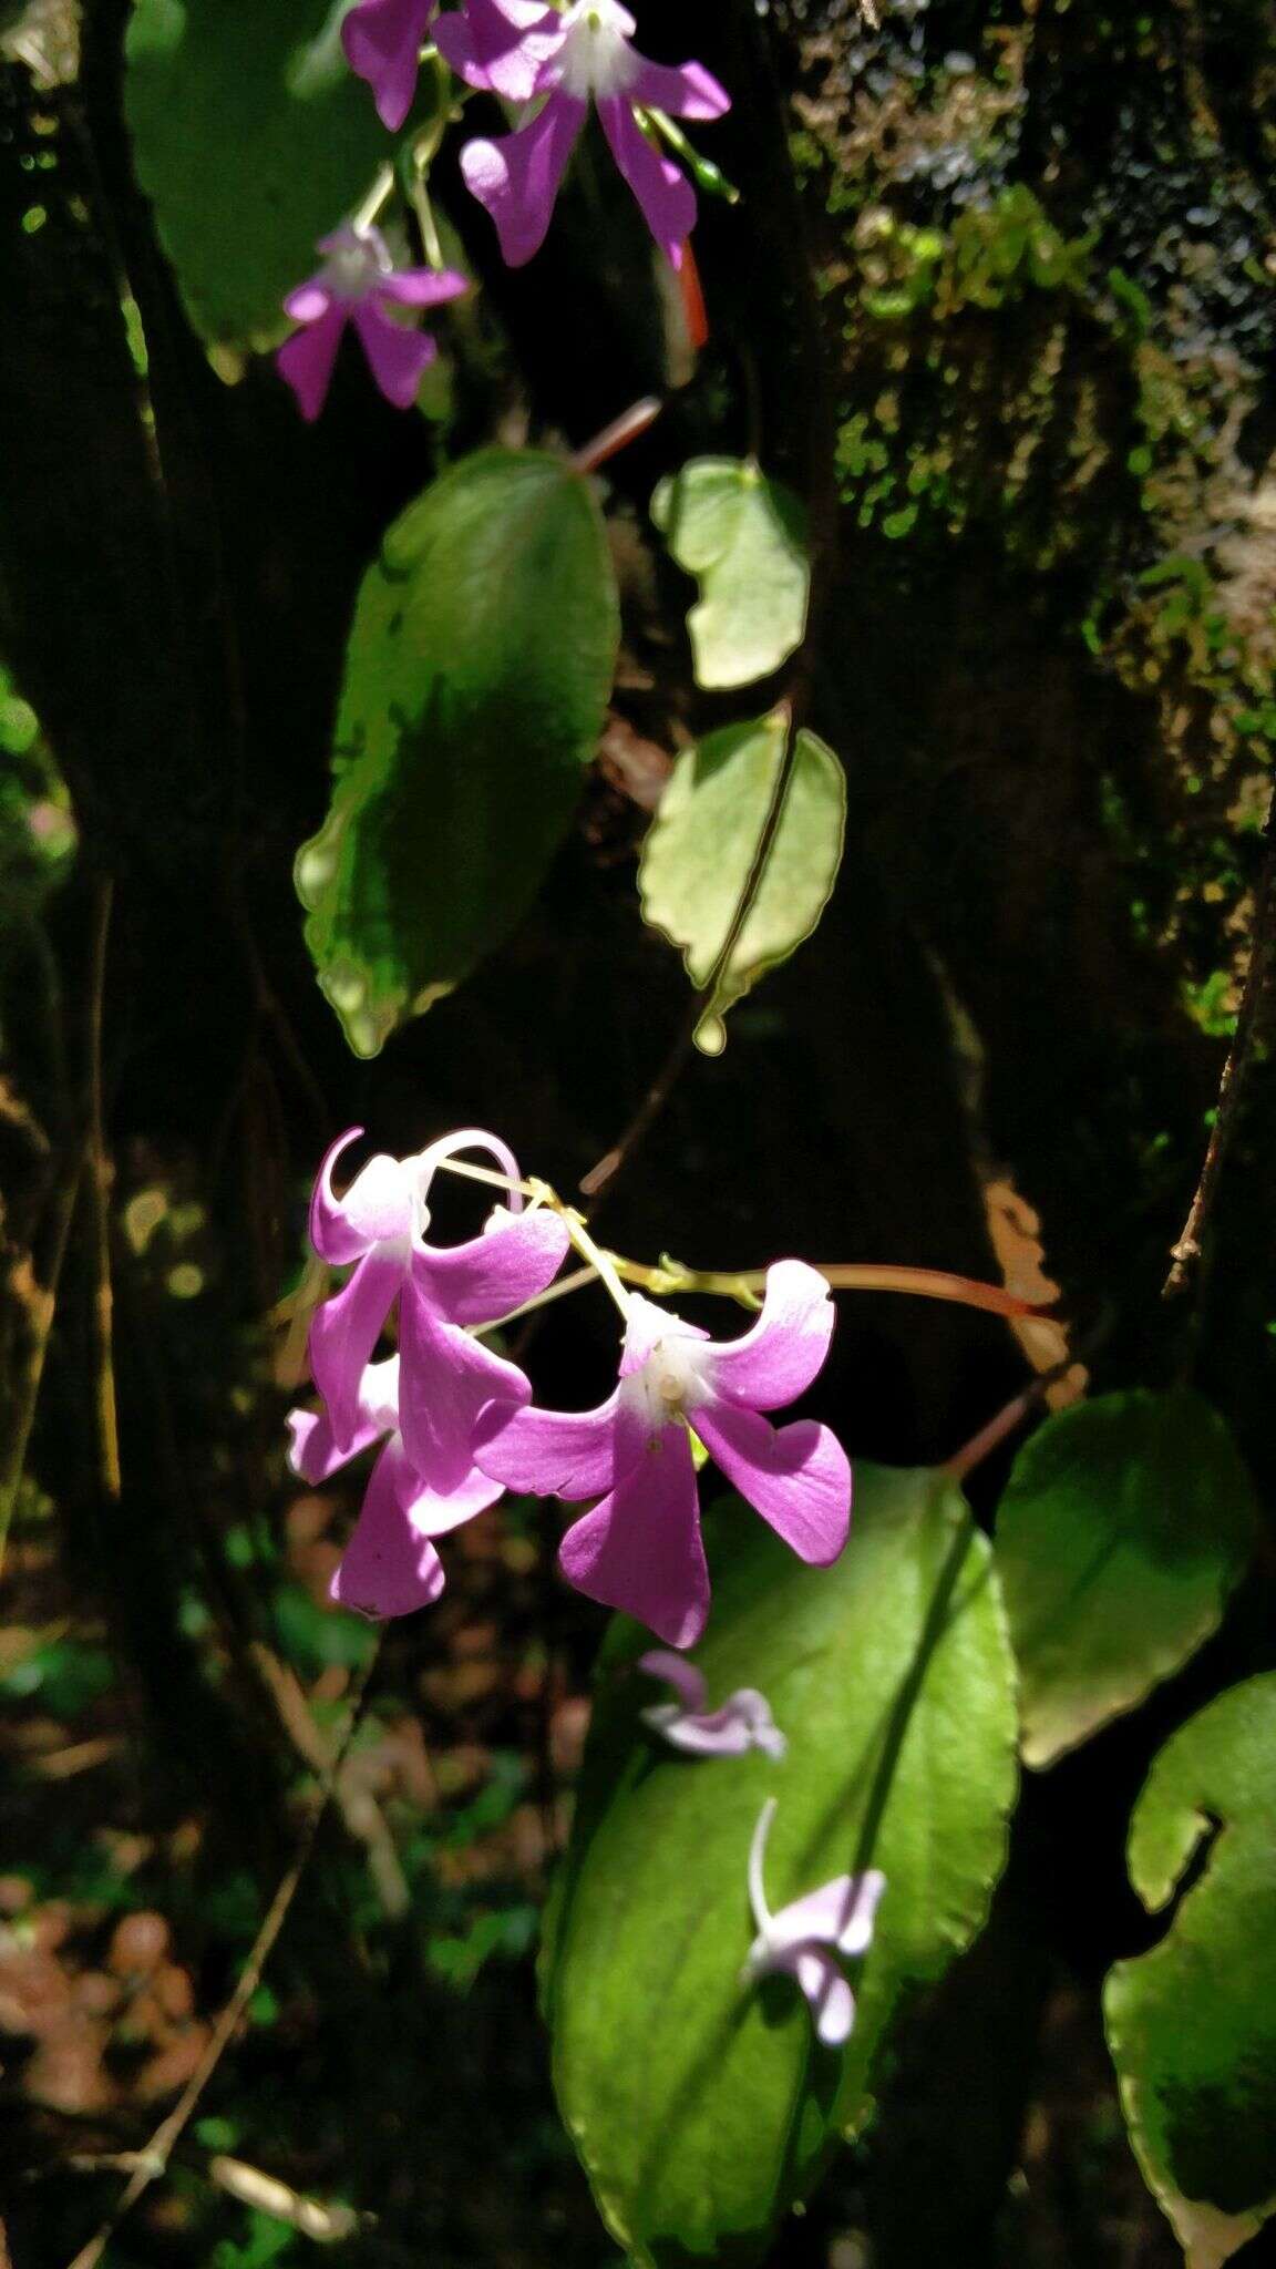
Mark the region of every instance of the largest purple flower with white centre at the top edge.
POLYGON ((493 216, 511 268, 545 243, 590 102, 652 236, 674 268, 681 263, 695 227, 695 191, 636 113, 722 118, 731 100, 704 64, 674 70, 647 61, 631 45, 633 32, 620 0, 572 0, 561 14, 531 0, 468 0, 463 14, 440 16, 438 50, 470 86, 506 102, 547 98, 513 134, 465 143, 461 152, 465 182, 493 216))

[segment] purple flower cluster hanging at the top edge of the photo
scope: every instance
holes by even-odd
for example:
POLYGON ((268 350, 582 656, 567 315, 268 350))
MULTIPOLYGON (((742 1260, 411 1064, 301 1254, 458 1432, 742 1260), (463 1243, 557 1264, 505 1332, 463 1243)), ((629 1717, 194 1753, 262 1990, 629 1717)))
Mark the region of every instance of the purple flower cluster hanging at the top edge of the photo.
MULTIPOLYGON (((590 107, 652 236, 681 265, 695 227, 695 191, 656 141, 661 118, 722 118, 724 88, 702 64, 652 64, 633 45, 636 23, 620 0, 356 0, 341 27, 350 68, 372 88, 381 123, 397 132, 413 104, 427 34, 468 88, 520 113, 511 134, 461 150, 465 184, 490 213, 511 268, 529 261, 549 229, 568 159, 590 107)), ((668 129, 672 132, 672 129, 668 129)), ((325 265, 284 302, 300 329, 279 349, 279 370, 304 417, 318 417, 347 324, 361 338, 388 402, 411 408, 434 340, 400 311, 438 306, 465 279, 395 268, 370 225, 350 222, 320 243, 325 265)))

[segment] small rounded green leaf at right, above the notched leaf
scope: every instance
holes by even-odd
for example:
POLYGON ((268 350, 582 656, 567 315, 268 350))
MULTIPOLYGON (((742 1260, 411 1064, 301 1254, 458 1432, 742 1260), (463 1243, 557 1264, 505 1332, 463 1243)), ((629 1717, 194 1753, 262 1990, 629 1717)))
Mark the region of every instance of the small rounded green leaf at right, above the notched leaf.
POLYGON ((1135 1709, 1197 1652, 1253 1522, 1249 1475, 1199 1395, 1140 1389, 1047 1420, 997 1516, 1029 1765, 1135 1709))

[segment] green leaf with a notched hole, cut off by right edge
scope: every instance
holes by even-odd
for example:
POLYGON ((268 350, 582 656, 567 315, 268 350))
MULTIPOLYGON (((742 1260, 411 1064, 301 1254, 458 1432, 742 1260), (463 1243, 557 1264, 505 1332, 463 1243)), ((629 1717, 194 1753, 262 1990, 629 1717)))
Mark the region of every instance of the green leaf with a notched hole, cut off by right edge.
POLYGON ((1219 2269, 1276 2212, 1276 1675, 1192 1718, 1135 1804, 1131 1881, 1151 1954, 1103 2006, 1131 2140, 1187 2255, 1219 2269))

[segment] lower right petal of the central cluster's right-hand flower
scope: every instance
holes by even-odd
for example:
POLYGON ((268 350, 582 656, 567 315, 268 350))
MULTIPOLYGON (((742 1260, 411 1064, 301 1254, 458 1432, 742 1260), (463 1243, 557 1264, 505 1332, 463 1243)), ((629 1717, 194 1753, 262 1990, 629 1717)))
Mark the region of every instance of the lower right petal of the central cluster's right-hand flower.
POLYGON ((715 1466, 799 1559, 829 1568, 851 1525, 851 1466, 813 1418, 772 1427, 731 1402, 697 1402, 692 1425, 715 1466))

